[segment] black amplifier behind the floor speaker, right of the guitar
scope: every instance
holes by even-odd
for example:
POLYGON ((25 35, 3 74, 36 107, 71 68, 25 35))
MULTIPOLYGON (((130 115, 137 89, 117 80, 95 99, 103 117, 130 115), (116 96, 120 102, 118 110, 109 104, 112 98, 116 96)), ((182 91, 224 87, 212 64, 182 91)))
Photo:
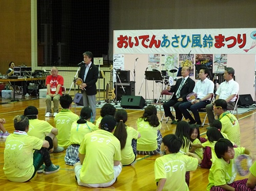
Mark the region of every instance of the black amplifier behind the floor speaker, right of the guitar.
POLYGON ((135 96, 135 82, 117 83, 117 86, 115 82, 114 88, 117 89, 117 91, 115 90, 115 93, 117 94, 117 101, 120 101, 122 99, 122 96, 135 96), (123 86, 123 88, 121 85, 123 86), (123 92, 123 89, 125 93, 123 92))

